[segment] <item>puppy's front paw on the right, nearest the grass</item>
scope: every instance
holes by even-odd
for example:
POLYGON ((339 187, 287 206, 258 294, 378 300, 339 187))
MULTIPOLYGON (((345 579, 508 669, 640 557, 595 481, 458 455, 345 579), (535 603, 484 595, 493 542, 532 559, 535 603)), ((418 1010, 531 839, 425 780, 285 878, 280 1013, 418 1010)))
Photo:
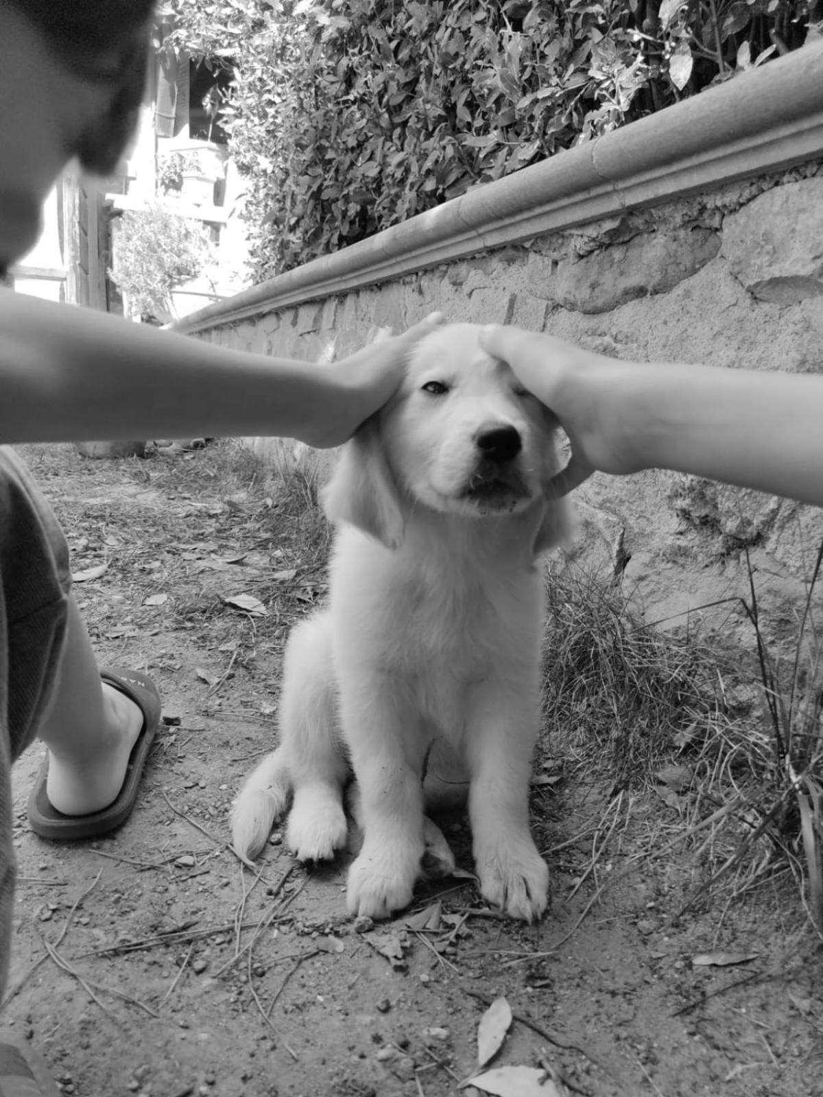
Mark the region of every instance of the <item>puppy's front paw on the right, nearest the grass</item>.
POLYGON ((549 868, 531 837, 475 852, 481 894, 510 918, 537 921, 546 906, 549 868))

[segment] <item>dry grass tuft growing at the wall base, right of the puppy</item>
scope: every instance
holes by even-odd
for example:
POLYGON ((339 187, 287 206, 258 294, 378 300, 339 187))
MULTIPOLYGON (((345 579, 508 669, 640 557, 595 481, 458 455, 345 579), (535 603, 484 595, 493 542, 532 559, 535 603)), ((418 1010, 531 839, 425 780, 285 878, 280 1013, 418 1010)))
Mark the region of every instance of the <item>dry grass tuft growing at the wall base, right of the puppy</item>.
POLYGON ((782 659, 766 649, 754 585, 746 610, 756 658, 747 659, 688 631, 646 626, 611 581, 570 568, 548 577, 552 753, 571 757, 578 774, 606 778, 612 798, 655 790, 663 817, 646 856, 688 853, 694 886, 680 913, 710 894, 729 905, 790 874, 823 929, 823 658, 813 603, 822 559, 823 546, 796 647, 782 659))

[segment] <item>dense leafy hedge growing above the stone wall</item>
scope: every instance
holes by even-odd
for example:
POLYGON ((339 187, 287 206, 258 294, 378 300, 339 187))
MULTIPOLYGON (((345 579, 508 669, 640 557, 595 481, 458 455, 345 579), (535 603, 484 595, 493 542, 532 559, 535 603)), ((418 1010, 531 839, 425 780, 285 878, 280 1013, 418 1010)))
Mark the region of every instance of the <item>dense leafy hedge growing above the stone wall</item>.
POLYGON ((235 70, 259 278, 801 45, 823 2, 169 0, 235 70))

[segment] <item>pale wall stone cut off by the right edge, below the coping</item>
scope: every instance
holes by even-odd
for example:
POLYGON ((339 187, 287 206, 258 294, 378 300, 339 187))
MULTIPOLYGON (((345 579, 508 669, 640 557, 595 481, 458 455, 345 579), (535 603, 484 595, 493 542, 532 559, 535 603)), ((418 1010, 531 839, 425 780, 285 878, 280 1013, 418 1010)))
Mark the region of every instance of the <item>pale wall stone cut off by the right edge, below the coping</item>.
POLYGON ((823 295, 823 179, 775 186, 730 214, 721 253, 758 301, 823 295))

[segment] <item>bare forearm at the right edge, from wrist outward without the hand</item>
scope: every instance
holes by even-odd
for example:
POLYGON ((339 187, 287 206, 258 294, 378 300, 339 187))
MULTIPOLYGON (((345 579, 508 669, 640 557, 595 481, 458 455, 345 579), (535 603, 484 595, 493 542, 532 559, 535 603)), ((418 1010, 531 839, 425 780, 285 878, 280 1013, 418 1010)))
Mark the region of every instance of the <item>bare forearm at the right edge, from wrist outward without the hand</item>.
POLYGON ((636 467, 823 505, 823 376, 634 365, 617 388, 612 421, 636 467))

